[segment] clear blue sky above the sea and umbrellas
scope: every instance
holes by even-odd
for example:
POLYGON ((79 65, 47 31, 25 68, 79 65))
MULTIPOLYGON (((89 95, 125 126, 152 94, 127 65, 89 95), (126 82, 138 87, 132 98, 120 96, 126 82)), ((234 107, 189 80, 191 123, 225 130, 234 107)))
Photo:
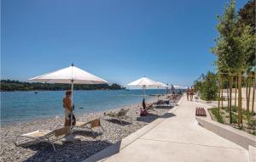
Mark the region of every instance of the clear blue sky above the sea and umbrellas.
MULTIPOLYGON (((110 83, 189 87, 214 70, 225 0, 2 0, 1 78, 74 64, 110 83)), ((237 0, 242 8, 247 0, 237 0)))

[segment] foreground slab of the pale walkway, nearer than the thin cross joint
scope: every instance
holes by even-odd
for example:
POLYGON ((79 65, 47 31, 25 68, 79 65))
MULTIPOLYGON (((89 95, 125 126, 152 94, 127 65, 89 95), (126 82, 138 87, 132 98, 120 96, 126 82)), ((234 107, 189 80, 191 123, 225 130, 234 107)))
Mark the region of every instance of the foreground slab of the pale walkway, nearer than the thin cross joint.
POLYGON ((105 161, 245 162, 249 158, 246 150, 138 139, 105 161))

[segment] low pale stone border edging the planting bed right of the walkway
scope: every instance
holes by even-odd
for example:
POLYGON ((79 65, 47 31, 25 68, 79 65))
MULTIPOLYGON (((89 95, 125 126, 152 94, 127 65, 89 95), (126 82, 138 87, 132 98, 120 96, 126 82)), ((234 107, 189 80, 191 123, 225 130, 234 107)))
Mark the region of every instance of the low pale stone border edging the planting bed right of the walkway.
POLYGON ((225 126, 221 123, 218 123, 213 120, 207 120, 202 117, 195 117, 198 121, 198 124, 209 131, 214 132, 220 137, 236 143, 242 148, 249 149, 249 145, 256 147, 256 137, 253 135, 247 134, 247 132, 237 130, 230 126, 225 126))

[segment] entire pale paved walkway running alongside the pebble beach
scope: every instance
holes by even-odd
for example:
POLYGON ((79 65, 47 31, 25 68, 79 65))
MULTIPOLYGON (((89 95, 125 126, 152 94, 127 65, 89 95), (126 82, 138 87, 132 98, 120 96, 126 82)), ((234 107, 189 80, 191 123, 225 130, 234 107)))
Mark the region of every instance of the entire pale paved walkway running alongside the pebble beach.
POLYGON ((183 97, 168 117, 150 123, 154 126, 147 131, 136 132, 139 136, 103 161, 249 161, 246 149, 198 125, 196 106, 201 103, 183 97))

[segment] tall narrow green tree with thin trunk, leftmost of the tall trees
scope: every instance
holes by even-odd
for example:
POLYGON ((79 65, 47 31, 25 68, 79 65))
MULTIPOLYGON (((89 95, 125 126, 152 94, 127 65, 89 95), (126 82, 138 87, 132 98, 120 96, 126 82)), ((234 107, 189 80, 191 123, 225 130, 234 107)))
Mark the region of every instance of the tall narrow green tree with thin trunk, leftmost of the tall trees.
POLYGON ((238 16, 236 14, 235 0, 230 0, 224 8, 224 14, 218 15, 218 38, 216 40, 216 47, 212 48, 212 53, 218 56, 216 62, 218 72, 228 72, 230 74, 230 123, 231 116, 231 94, 232 81, 234 73, 240 73, 245 61, 245 55, 241 53, 241 39, 239 36, 239 29, 237 29, 238 16))

